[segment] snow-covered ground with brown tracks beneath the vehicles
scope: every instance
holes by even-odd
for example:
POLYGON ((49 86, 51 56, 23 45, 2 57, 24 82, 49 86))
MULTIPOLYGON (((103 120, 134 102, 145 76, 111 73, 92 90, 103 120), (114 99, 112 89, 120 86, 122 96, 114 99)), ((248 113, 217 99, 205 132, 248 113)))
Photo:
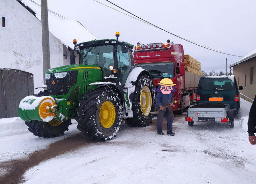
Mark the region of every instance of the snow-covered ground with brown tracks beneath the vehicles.
POLYGON ((147 127, 123 123, 106 142, 85 140, 75 121, 63 136, 40 138, 20 118, 0 119, 0 177, 8 172, 2 163, 37 156, 38 163, 24 172, 25 184, 255 183, 256 146, 246 132, 251 105, 241 99, 242 116, 233 129, 206 122, 189 127, 184 113, 175 116, 175 136, 158 135, 154 118, 147 127))

